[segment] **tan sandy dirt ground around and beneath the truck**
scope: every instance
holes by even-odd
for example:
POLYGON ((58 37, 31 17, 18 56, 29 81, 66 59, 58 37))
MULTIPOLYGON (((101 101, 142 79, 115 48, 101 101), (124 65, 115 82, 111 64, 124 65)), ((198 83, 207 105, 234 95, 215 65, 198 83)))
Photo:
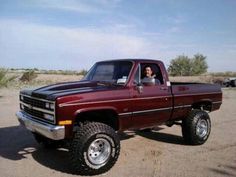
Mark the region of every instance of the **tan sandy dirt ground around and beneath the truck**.
MULTIPOLYGON (((65 149, 46 150, 19 126, 17 89, 0 89, 0 176, 62 177, 72 174, 65 149)), ((236 176, 236 90, 223 89, 223 105, 210 113, 212 130, 201 146, 185 145, 179 126, 120 135, 121 153, 107 177, 236 176)))

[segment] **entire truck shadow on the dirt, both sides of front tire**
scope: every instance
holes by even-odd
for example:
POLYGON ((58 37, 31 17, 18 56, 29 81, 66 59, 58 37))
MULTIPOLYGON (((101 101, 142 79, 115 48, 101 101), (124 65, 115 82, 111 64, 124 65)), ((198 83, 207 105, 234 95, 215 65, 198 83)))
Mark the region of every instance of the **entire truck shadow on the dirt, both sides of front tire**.
MULTIPOLYGON (((182 138, 160 132, 142 133, 126 131, 119 133, 121 141, 143 136, 155 141, 173 144, 183 144, 182 138)), ((21 126, 0 128, 0 156, 5 159, 18 161, 33 157, 33 159, 47 167, 62 173, 76 174, 71 166, 68 149, 45 149, 39 145, 33 135, 21 126)))

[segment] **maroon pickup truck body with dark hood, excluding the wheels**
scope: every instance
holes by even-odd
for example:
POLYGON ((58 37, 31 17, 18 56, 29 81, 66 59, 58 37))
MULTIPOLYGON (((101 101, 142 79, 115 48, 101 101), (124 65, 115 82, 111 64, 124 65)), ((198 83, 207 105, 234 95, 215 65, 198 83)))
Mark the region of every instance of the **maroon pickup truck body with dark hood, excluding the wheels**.
POLYGON ((171 83, 164 64, 157 60, 118 61, 131 63, 124 84, 85 79, 23 90, 20 93, 21 111, 17 113, 18 119, 32 132, 61 140, 72 139, 75 125, 86 118, 123 131, 182 120, 193 109, 215 111, 220 108, 222 91, 219 85, 171 83), (145 86, 135 81, 136 75, 146 64, 158 68, 161 84, 145 86), (45 116, 45 113, 52 117, 45 116), (46 131, 55 134, 45 132, 45 126, 50 127, 46 131))

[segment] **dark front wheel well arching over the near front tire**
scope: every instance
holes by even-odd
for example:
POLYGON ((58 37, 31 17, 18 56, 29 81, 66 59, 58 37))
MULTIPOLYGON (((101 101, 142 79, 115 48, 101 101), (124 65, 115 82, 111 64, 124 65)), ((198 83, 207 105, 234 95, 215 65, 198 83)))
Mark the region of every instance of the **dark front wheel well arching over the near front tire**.
POLYGON ((79 125, 86 121, 101 122, 109 125, 114 130, 119 130, 118 115, 113 110, 95 110, 79 113, 76 116, 75 125, 79 125))

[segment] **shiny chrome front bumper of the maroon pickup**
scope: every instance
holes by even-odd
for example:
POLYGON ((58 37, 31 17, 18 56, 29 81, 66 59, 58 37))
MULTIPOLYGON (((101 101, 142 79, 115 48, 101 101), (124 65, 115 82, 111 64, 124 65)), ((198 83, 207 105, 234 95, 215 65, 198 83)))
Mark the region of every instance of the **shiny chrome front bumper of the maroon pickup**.
POLYGON ((20 124, 31 132, 39 133, 53 140, 62 140, 65 138, 65 126, 56 126, 37 121, 23 111, 17 112, 16 117, 20 124))

